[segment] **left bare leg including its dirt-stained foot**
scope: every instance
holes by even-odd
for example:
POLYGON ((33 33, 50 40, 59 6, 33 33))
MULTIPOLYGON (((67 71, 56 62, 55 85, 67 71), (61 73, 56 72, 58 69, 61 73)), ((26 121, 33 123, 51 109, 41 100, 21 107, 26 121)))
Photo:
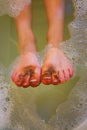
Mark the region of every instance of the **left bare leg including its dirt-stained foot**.
POLYGON ((36 56, 35 36, 31 27, 31 4, 15 18, 19 39, 20 59, 12 73, 17 86, 36 87, 40 84, 41 67, 36 56))

